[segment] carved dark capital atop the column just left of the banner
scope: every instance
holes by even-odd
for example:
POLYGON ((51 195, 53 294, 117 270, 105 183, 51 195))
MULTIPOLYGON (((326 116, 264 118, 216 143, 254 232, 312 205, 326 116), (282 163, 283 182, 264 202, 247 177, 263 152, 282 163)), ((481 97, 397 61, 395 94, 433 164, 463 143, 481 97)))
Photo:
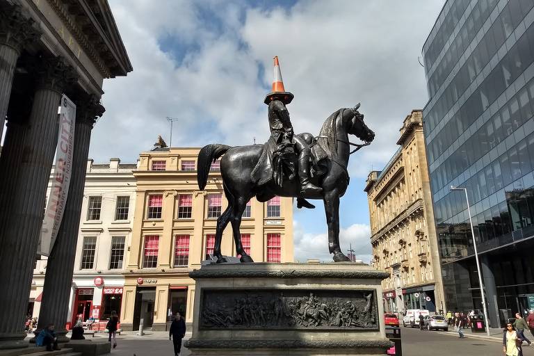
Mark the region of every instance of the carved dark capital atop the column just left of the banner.
POLYGON ((35 73, 38 89, 54 90, 63 94, 79 78, 76 69, 62 56, 40 54, 29 59, 27 65, 31 72, 35 73))

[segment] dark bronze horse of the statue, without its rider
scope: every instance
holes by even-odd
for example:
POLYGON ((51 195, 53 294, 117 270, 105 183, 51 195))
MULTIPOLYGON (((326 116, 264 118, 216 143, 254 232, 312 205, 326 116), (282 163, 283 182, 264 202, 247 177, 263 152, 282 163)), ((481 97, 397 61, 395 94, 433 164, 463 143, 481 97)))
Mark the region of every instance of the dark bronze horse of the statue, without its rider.
MULTIPOLYGON (((316 138, 316 144, 320 145, 326 152, 326 158, 323 159, 324 174, 312 179, 316 186, 323 188, 322 193, 316 195, 301 195, 298 179, 286 179, 282 186, 276 184, 274 179, 262 186, 255 184, 250 173, 257 165, 264 145, 230 147, 211 144, 202 147, 198 154, 197 163, 197 181, 200 190, 204 190, 206 187, 211 162, 216 161, 224 154, 220 160, 220 172, 223 176, 223 188, 228 200, 228 207, 217 219, 215 246, 213 248, 213 256, 217 257, 217 263, 226 262, 220 251, 220 243, 223 238, 223 230, 228 223, 232 224, 236 253, 241 255, 240 261, 243 263, 253 262, 241 245, 239 232, 241 216, 250 198, 255 196, 259 202, 266 202, 275 195, 323 200, 330 253, 334 254, 333 259, 336 262, 350 261, 341 252, 339 246, 339 198, 345 194, 348 186, 347 165, 350 154, 369 145, 375 137, 375 133, 366 126, 364 115, 357 111, 358 108, 359 104, 354 108, 341 108, 332 113, 316 138), (364 143, 350 143, 348 135, 355 135, 364 143), (351 152, 350 145, 357 148, 351 152)), ((302 133, 301 136, 310 137, 311 135, 302 133)))

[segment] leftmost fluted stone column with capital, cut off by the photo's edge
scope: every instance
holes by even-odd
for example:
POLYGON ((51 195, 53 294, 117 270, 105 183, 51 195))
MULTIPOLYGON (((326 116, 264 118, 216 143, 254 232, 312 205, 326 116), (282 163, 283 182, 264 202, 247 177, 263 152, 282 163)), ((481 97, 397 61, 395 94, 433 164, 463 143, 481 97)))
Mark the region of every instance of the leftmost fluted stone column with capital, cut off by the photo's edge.
POLYGON ((0 3, 0 137, 8 112, 17 58, 24 46, 39 36, 40 31, 22 6, 8 1, 0 3))

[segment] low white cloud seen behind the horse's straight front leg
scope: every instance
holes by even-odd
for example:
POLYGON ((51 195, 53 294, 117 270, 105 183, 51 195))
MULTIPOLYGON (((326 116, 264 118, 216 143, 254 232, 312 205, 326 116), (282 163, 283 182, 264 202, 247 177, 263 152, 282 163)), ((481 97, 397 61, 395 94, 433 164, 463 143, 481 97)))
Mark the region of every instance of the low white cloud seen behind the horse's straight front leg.
MULTIPOLYGON (((293 241, 295 244, 295 260, 305 262, 307 259, 320 259, 332 261, 332 255, 328 252, 328 235, 310 234, 305 232, 305 227, 298 220, 293 220, 293 241)), ((356 259, 365 263, 371 261, 371 229, 366 224, 353 224, 346 229, 340 229, 339 243, 341 252, 347 254, 350 246, 355 251, 356 259)))

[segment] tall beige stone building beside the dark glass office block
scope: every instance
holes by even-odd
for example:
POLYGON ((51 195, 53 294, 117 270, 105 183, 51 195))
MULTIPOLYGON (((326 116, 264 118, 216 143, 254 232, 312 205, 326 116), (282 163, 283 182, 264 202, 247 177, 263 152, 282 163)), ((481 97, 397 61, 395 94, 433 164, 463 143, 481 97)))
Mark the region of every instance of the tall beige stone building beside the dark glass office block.
POLYGON ((422 118, 420 110, 407 115, 401 147, 366 181, 373 265, 391 274, 382 281, 387 312, 446 308, 422 118))

